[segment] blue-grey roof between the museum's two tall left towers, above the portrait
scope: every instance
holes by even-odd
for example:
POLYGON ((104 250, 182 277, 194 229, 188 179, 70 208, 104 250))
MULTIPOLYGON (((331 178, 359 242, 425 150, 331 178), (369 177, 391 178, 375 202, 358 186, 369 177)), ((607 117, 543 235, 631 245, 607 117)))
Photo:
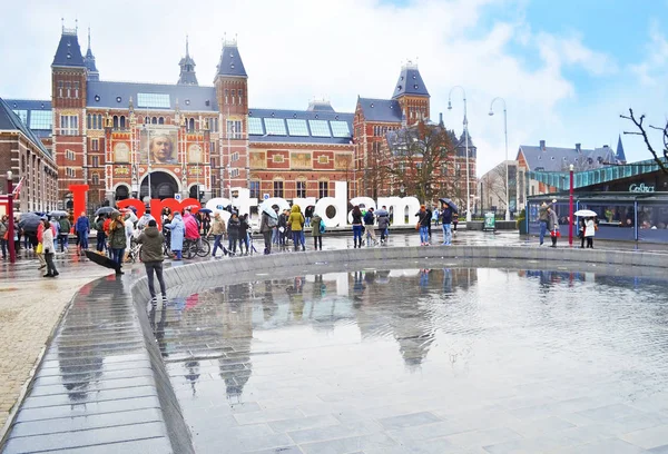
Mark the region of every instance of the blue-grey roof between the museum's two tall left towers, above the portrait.
POLYGON ((126 109, 131 97, 135 102, 135 109, 140 112, 147 106, 139 103, 138 93, 155 93, 169 97, 168 107, 148 106, 148 108, 174 110, 178 100, 181 111, 218 111, 218 101, 214 87, 141 82, 89 81, 86 93, 86 106, 89 108, 126 109))

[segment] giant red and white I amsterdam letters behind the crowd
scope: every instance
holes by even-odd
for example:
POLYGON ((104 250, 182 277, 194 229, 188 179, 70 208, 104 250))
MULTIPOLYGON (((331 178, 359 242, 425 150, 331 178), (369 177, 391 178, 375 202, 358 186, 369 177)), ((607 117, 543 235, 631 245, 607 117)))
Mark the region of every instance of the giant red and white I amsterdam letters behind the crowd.
MULTIPOLYGON (((79 213, 86 211, 86 193, 88 191, 88 185, 70 185, 69 190, 72 194, 73 209, 78 215, 79 213)), ((229 213, 225 211, 224 208, 232 205, 235 207, 240 215, 249 214, 252 207, 258 205, 256 198, 250 198, 250 191, 246 188, 233 188, 232 199, 225 197, 213 198, 206 203, 203 207, 202 204, 194 198, 187 198, 184 200, 176 200, 174 198, 167 199, 151 199, 150 200, 150 213, 159 214, 163 213, 164 208, 169 208, 173 211, 183 211, 185 208, 190 208, 193 213, 199 210, 199 208, 208 208, 212 211, 220 211, 225 220, 229 217, 229 213)), ((346 199, 347 184, 345 181, 334 182, 334 197, 323 197, 316 200, 315 197, 295 198, 292 200, 292 205, 298 205, 302 208, 302 213, 307 206, 315 206, 315 213, 323 218, 327 228, 347 226, 352 223, 352 216, 348 213, 348 200, 346 199), (327 216, 327 208, 333 206, 336 208, 336 214, 333 217, 327 216)), ((420 209, 420 201, 415 197, 379 197, 377 200, 371 197, 355 197, 350 200, 351 205, 364 205, 366 208, 374 208, 386 206, 387 209, 392 209, 393 213, 400 214, 394 216, 393 225, 405 226, 405 217, 401 214, 407 210, 409 215, 416 213, 420 209)), ((269 197, 262 201, 262 205, 274 206, 277 205, 278 209, 289 209, 291 204, 281 197, 269 197)), ((117 208, 135 207, 137 209, 137 216, 141 217, 146 210, 146 207, 141 200, 138 199, 125 199, 117 204, 117 208)), ((160 217, 155 216, 156 221, 160 223, 160 217)), ((412 216, 411 216, 412 218, 412 216)), ((411 223, 413 224, 413 223, 411 223)))

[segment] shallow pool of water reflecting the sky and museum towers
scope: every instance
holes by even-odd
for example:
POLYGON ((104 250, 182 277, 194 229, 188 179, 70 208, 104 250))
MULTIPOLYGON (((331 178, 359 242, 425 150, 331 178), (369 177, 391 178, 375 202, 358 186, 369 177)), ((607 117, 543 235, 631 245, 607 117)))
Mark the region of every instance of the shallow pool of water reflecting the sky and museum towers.
POLYGON ((210 287, 150 319, 198 453, 668 452, 667 290, 366 268, 210 287))

